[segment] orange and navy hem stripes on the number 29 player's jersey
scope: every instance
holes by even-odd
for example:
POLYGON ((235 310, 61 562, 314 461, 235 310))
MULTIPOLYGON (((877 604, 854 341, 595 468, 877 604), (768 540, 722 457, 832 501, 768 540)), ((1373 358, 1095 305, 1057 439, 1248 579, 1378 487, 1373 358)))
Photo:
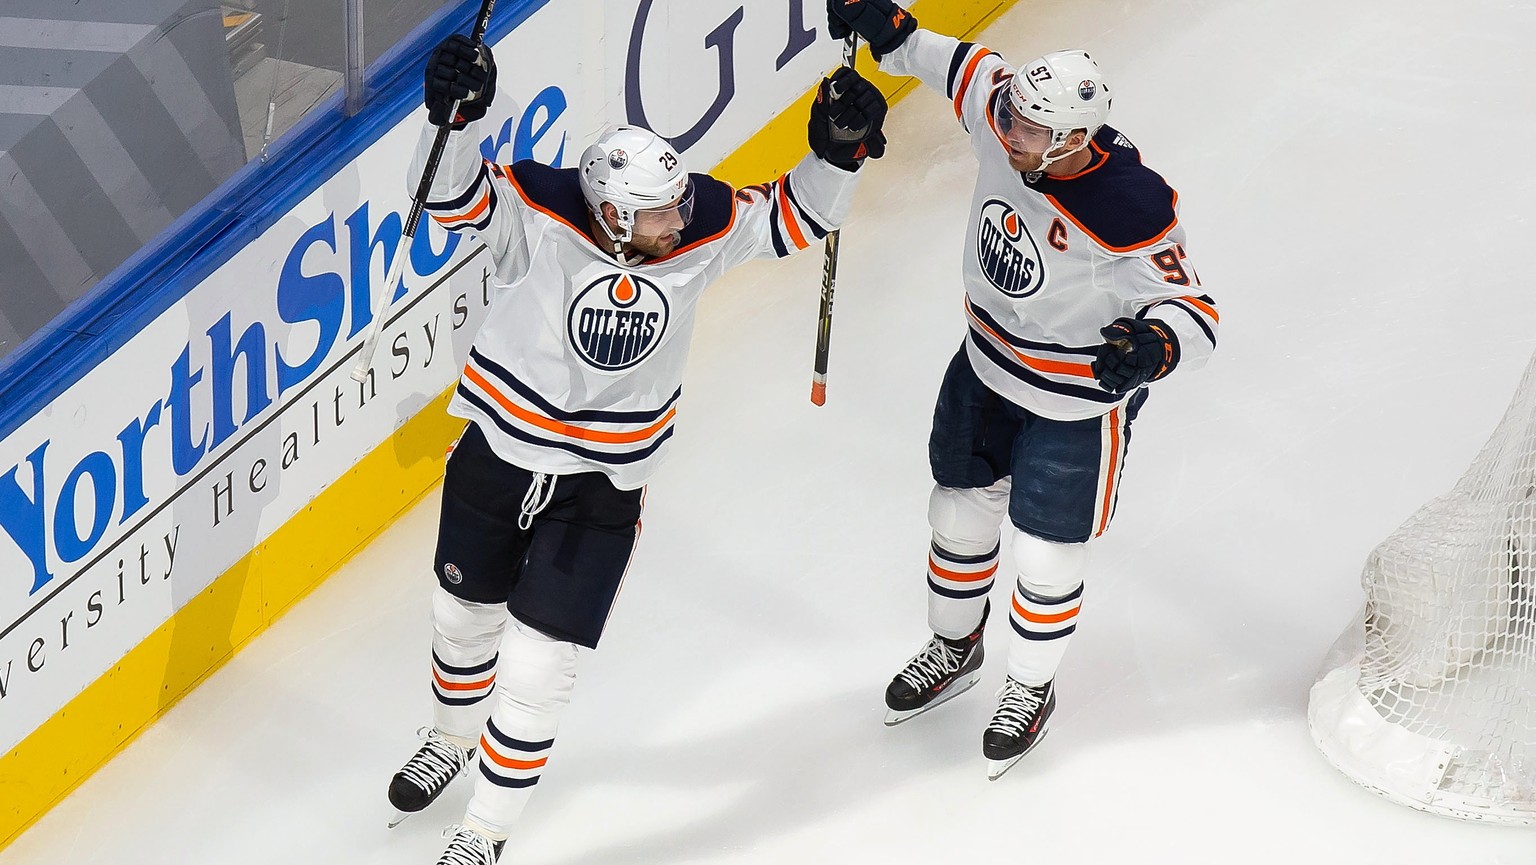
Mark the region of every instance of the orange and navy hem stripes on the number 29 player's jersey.
POLYGON ((682 389, 650 410, 571 412, 554 406, 507 367, 472 347, 458 396, 518 441, 564 450, 598 464, 624 466, 651 456, 671 438, 682 389))

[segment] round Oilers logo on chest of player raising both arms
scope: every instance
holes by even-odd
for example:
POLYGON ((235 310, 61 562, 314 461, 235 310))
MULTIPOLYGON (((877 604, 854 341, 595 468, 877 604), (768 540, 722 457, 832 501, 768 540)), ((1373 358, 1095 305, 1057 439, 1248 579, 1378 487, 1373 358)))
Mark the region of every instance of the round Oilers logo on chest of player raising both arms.
POLYGON ((576 295, 565 327, 582 361, 602 372, 619 372, 656 350, 670 312, 654 283, 634 273, 605 273, 576 295))

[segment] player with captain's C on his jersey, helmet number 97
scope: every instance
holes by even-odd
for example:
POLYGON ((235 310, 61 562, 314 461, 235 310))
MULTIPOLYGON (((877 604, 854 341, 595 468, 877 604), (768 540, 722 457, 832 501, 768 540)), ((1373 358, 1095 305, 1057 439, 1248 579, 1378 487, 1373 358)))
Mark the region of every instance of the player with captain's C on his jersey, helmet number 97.
POLYGON ((965 240, 968 333, 929 436, 934 636, 885 699, 886 724, 900 724, 980 679, 1006 542, 1018 570, 1008 674, 982 737, 997 777, 1048 730, 1089 541, 1114 516, 1146 386, 1206 363, 1217 306, 1184 249, 1177 194, 1104 124, 1111 89, 1087 54, 1015 69, 919 29, 891 0, 828 0, 828 18, 833 37, 866 38, 882 71, 943 92, 980 164, 965 240))

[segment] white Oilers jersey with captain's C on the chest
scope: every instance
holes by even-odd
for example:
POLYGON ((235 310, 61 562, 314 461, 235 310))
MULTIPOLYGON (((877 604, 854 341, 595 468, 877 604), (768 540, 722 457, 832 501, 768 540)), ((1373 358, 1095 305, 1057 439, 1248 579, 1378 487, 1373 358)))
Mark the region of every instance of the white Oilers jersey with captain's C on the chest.
POLYGON ((1184 249, 1178 195, 1124 135, 1104 126, 1087 167, 1029 183, 1009 167, 992 117, 1014 74, 998 54, 919 29, 880 68, 943 92, 971 134, 980 174, 965 240, 966 353, 988 387, 1046 418, 1107 413, 1130 395, 1100 389, 1089 364, 1098 329, 1120 317, 1166 321, 1178 367, 1204 366, 1217 304, 1184 249))

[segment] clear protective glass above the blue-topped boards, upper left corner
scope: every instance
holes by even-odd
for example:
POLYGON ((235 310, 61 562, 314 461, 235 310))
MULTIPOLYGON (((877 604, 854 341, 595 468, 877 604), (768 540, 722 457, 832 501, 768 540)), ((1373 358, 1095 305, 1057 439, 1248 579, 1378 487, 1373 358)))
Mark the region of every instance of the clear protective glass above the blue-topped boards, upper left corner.
POLYGON ((0 366, 442 5, 0 3, 0 366))

